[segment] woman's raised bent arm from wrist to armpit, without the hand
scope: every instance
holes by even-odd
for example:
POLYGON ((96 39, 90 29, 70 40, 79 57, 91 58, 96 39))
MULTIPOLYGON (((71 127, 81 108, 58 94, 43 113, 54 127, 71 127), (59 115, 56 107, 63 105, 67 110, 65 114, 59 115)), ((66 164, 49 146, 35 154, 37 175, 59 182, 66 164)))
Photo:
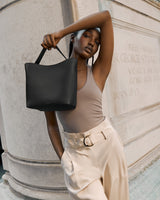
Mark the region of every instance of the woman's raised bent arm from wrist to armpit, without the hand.
POLYGON ((101 78, 103 79, 102 75, 106 78, 105 75, 108 75, 110 71, 114 48, 113 26, 109 11, 97 12, 80 19, 60 30, 59 34, 64 37, 69 33, 94 27, 99 27, 101 30, 101 45, 97 58, 97 68, 101 72, 101 78))

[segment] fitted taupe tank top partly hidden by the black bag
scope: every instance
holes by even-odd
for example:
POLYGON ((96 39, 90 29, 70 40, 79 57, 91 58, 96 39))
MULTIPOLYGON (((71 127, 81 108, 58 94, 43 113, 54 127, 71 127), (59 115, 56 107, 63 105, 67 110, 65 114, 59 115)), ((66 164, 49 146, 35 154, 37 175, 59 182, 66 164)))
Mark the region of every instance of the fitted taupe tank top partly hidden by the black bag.
POLYGON ((87 67, 87 80, 84 86, 77 90, 76 108, 56 113, 65 132, 87 131, 104 120, 102 92, 94 80, 91 66, 87 67))

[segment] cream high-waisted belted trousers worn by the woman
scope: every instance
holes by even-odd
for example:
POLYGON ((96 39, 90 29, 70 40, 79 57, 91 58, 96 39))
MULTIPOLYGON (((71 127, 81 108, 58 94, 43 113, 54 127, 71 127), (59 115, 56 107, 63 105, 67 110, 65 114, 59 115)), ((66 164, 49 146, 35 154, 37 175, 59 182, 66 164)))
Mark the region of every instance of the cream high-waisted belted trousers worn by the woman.
POLYGON ((71 199, 129 200, 124 147, 109 119, 85 132, 63 133, 61 165, 71 199))

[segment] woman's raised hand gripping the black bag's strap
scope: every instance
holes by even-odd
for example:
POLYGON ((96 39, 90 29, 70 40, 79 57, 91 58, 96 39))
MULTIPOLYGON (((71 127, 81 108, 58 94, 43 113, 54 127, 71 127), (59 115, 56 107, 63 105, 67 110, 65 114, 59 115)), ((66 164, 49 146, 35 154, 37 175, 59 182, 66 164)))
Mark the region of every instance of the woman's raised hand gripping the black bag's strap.
POLYGON ((46 34, 43 37, 43 42, 41 44, 42 47, 45 49, 51 50, 51 48, 56 48, 56 45, 62 38, 62 35, 60 32, 54 32, 51 34, 46 34))

